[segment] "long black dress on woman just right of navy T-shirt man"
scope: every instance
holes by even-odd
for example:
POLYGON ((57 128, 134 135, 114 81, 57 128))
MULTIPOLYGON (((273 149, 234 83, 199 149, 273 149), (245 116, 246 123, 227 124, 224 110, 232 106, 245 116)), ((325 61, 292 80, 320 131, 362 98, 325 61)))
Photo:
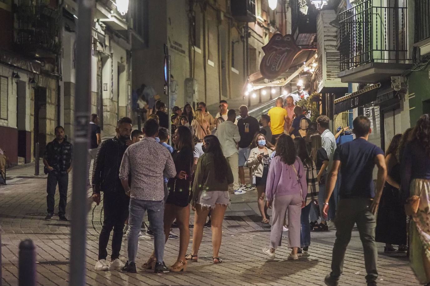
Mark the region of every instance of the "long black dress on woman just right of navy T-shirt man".
MULTIPOLYGON (((400 164, 390 172, 390 177, 400 184, 400 164)), ((385 183, 379 202, 375 241, 394 245, 406 244, 406 214, 400 201, 399 189, 385 183)))

